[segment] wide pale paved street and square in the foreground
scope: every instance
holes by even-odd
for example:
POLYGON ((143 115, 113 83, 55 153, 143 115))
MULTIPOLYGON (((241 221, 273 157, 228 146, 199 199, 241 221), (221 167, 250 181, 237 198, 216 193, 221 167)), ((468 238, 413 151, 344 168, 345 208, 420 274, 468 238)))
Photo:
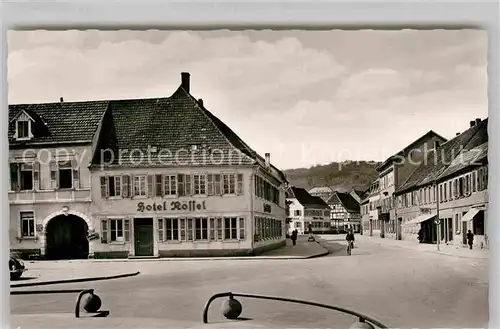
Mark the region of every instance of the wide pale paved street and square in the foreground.
MULTIPOLYGON (((233 291, 352 308, 391 328, 487 327, 486 259, 443 257, 387 247, 369 239, 357 241, 352 256, 347 257, 342 240, 343 236, 336 236, 323 241, 332 254, 306 260, 91 263, 96 271, 113 267, 141 274, 51 289, 95 288, 111 317, 199 322, 212 294, 233 291)), ((13 324, 19 314, 71 312, 74 298, 12 296, 13 324)), ((242 316, 282 328, 348 328, 355 320, 308 306, 241 301, 242 316)), ((213 306, 213 321, 221 320, 219 305, 216 302, 213 306)))

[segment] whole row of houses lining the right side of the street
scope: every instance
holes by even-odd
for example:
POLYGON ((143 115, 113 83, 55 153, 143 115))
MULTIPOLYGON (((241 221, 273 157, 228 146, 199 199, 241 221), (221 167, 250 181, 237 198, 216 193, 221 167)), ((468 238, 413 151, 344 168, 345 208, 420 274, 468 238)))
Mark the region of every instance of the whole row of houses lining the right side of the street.
POLYGON ((389 157, 361 198, 363 233, 488 248, 488 119, 450 140, 434 131, 389 157))

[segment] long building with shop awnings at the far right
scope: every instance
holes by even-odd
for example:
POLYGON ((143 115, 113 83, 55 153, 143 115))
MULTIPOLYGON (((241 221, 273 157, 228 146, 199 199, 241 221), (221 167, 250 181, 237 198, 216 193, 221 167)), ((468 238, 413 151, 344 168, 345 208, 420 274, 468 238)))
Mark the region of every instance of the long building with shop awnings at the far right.
POLYGON ((486 143, 487 119, 471 121, 469 129, 430 152, 396 190, 403 239, 417 240, 421 231, 425 243, 462 244, 467 228, 479 233, 477 243, 485 244, 486 143), (471 159, 476 154, 478 158, 471 159))

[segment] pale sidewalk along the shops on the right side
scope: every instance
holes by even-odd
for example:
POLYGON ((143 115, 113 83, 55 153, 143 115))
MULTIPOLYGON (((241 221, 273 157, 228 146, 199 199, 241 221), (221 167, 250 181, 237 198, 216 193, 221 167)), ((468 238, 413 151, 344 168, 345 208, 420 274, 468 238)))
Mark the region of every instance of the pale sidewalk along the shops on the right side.
MULTIPOLYGON (((321 236, 324 239, 328 240, 328 236, 321 236)), ((390 248, 404 248, 411 249, 415 251, 421 252, 430 252, 439 255, 446 256, 454 256, 461 258, 475 258, 475 259, 488 259, 489 252, 487 249, 473 249, 470 250, 466 247, 454 246, 454 245, 446 245, 440 244, 439 251, 437 250, 436 244, 426 244, 426 243, 417 243, 416 241, 407 241, 407 240, 394 240, 388 238, 380 238, 380 237, 370 237, 368 235, 356 235, 356 241, 363 243, 378 243, 384 247, 390 248)))

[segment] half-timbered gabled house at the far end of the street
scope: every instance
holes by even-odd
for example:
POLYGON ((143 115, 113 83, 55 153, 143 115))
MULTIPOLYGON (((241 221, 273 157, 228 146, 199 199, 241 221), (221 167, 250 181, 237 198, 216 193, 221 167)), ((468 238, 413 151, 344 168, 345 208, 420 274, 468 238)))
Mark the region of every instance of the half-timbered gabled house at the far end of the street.
MULTIPOLYGON (((356 194, 357 195, 357 194, 356 194)), ((361 232, 361 212, 358 199, 351 193, 335 192, 326 202, 331 208, 331 226, 337 232, 361 232)))

